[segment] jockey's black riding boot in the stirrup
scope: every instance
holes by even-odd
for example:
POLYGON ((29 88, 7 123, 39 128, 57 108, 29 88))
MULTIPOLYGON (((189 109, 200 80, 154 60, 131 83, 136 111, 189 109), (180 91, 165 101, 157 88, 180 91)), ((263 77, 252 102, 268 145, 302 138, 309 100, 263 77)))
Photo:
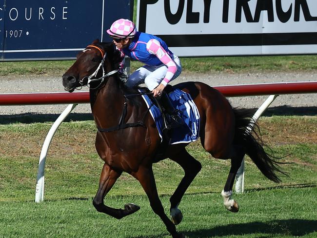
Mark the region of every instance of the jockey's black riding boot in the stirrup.
POLYGON ((170 98, 165 91, 162 92, 162 96, 158 98, 158 101, 165 109, 164 120, 166 129, 175 128, 184 124, 183 119, 178 115, 178 111, 174 108, 170 98))

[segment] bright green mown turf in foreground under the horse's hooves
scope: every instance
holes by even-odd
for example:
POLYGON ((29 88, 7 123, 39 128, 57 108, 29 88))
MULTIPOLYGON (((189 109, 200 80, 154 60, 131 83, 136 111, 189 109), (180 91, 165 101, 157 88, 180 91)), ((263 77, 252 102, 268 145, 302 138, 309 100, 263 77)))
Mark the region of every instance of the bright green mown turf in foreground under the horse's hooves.
MULTIPOLYGON (((248 191, 235 198, 237 214, 225 210, 219 193, 186 195, 180 209, 184 219, 178 231, 189 238, 313 238, 317 237, 316 188, 248 191)), ((166 212, 167 196, 161 197, 166 212)), ((118 196, 106 204, 123 207, 135 202, 141 209, 117 220, 100 214, 92 200, 50 200, 44 203, 0 202, 0 237, 42 238, 167 238, 160 219, 144 196, 118 196)))

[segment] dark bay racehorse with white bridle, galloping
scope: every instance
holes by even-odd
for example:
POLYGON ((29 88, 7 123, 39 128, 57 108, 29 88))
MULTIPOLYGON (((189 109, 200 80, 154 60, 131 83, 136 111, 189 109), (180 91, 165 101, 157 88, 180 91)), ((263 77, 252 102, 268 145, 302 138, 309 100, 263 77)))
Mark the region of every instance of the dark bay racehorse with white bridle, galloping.
MULTIPOLYGON (((104 204, 104 197, 121 173, 127 172, 142 185, 153 211, 164 222, 173 238, 184 237, 176 231, 182 220, 178 204, 188 186, 201 170, 201 164, 185 149, 188 143, 160 147, 156 124, 147 106, 134 89, 125 87, 118 69, 120 53, 113 43, 95 40, 79 52, 75 63, 62 76, 66 91, 89 85, 91 110, 98 132, 96 149, 104 161, 99 188, 93 205, 97 211, 114 218, 123 218, 139 210, 133 203, 116 209, 104 204), (129 95, 132 97, 129 97, 129 95), (172 159, 184 170, 176 191, 170 198, 169 219, 158 197, 152 164, 162 159, 172 159)), ((217 159, 231 159, 231 168, 221 195, 226 209, 238 212, 238 203, 231 198, 238 168, 245 154, 257 165, 262 174, 274 182, 280 182, 280 170, 275 157, 267 154, 262 140, 252 125, 247 109, 233 109, 228 100, 216 89, 202 82, 184 82, 174 86, 189 93, 200 115, 199 137, 202 147, 217 159)))

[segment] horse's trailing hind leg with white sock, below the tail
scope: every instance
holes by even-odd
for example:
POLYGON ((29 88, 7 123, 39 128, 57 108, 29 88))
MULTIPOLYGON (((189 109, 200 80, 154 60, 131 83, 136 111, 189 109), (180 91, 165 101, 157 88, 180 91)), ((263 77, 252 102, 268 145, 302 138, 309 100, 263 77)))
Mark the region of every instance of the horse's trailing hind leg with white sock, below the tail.
POLYGON ((223 197, 223 204, 225 208, 231 212, 238 212, 239 205, 234 199, 231 198, 231 195, 233 184, 245 153, 243 152, 242 148, 234 146, 231 154, 231 168, 224 189, 221 192, 221 195, 223 197))

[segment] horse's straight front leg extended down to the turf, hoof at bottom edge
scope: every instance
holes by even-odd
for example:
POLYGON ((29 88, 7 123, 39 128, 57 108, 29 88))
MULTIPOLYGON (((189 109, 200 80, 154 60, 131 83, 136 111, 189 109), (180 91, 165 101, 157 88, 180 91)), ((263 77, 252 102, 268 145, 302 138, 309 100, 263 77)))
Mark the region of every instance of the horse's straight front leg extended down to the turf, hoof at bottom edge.
POLYGON ((168 232, 172 235, 173 238, 182 238, 183 236, 177 233, 175 225, 164 212, 164 208, 158 197, 158 191, 156 188, 152 167, 140 167, 138 172, 135 173, 133 176, 139 180, 147 197, 149 198, 151 208, 164 222, 168 232))

